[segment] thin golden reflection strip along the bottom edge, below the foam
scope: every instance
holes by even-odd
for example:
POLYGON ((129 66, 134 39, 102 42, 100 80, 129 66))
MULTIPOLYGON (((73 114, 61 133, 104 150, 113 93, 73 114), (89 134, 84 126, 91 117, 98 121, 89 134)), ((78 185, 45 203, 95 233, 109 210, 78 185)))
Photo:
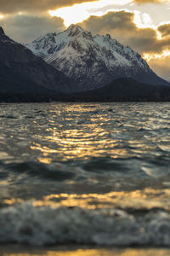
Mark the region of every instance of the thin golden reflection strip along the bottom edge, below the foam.
MULTIPOLYGON (((167 248, 82 248, 82 249, 61 249, 58 248, 56 251, 47 249, 30 249, 29 253, 20 253, 20 248, 18 253, 3 253, 2 256, 167 256, 170 255, 170 249, 167 248)), ((1 250, 0 250, 1 253, 1 250)))

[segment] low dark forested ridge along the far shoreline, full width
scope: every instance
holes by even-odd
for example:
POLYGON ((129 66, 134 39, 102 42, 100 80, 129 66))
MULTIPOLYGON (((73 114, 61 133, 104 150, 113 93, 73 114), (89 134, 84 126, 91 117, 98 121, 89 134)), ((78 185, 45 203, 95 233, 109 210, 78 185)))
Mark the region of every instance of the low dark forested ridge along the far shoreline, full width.
POLYGON ((78 93, 2 94, 0 102, 169 102, 169 85, 142 84, 134 79, 116 79, 102 88, 78 93))

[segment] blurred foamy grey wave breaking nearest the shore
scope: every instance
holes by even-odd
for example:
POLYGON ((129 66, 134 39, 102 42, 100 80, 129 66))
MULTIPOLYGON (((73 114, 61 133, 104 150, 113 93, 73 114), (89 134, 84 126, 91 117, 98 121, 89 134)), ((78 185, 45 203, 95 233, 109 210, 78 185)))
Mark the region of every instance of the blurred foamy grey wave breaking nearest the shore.
POLYGON ((35 207, 27 201, 1 209, 0 226, 0 243, 170 247, 170 214, 162 210, 135 216, 118 209, 35 207))

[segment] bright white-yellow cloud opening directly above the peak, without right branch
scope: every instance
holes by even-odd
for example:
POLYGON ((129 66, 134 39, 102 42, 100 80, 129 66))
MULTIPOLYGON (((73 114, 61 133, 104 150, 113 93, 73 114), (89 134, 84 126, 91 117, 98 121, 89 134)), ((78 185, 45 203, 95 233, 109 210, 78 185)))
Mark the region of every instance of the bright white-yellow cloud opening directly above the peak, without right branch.
POLYGON ((99 0, 95 2, 79 3, 73 6, 56 10, 49 10, 51 16, 57 16, 64 20, 65 26, 76 24, 87 20, 91 15, 102 16, 111 11, 114 5, 122 6, 133 0, 99 0))

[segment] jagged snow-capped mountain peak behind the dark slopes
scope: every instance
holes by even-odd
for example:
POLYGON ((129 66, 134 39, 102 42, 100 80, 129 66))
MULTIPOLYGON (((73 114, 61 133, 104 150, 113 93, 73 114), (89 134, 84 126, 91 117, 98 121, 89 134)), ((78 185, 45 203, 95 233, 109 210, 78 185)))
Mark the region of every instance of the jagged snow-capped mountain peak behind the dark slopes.
POLYGON ((71 25, 59 34, 37 38, 28 49, 74 81, 75 90, 99 88, 117 78, 145 84, 168 84, 154 73, 141 55, 110 35, 92 35, 71 25))

